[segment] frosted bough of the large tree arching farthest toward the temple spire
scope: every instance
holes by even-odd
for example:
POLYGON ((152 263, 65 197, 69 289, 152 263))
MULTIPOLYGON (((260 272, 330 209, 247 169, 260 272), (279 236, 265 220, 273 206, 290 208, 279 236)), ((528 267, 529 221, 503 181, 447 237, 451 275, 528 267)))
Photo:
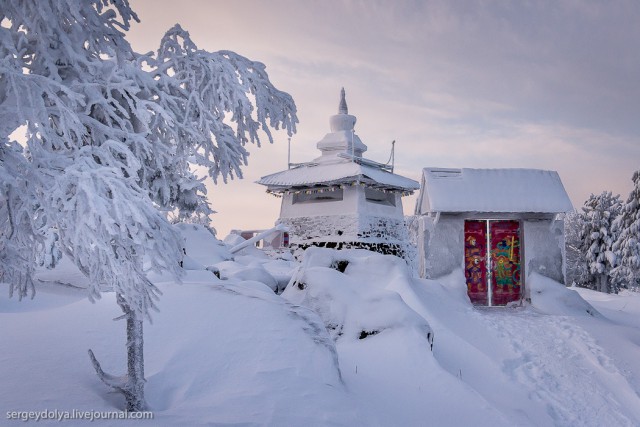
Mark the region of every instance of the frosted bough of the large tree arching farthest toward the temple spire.
POLYGON ((243 145, 259 146, 260 130, 269 142, 270 127, 295 132, 293 99, 273 86, 263 64, 230 51, 200 50, 179 25, 163 37, 156 61, 165 91, 184 100, 160 100, 177 119, 175 138, 214 180, 242 176, 243 145))

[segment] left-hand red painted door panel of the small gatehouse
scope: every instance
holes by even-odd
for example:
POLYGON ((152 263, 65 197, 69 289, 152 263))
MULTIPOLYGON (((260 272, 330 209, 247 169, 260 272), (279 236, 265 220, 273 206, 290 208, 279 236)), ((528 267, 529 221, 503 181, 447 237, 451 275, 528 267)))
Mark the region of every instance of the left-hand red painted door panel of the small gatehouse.
POLYGON ((487 222, 464 222, 464 274, 467 293, 473 304, 488 305, 487 222))

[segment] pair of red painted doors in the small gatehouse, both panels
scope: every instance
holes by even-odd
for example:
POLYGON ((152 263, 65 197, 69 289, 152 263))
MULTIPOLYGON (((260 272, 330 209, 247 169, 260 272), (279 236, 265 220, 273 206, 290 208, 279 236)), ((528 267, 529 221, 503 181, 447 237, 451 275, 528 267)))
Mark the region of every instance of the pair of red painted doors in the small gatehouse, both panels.
POLYGON ((465 277, 475 305, 506 305, 521 298, 518 221, 469 220, 464 224, 465 277))

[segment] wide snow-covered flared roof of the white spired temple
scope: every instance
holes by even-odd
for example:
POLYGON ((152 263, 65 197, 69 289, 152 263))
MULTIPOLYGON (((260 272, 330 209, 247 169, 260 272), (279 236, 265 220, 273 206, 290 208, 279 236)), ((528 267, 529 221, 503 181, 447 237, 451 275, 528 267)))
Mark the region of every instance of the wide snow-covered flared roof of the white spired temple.
POLYGON ((420 185, 409 178, 386 170, 351 161, 338 163, 307 164, 294 169, 263 176, 258 184, 266 185, 272 191, 309 185, 331 185, 347 182, 369 182, 382 187, 413 191, 420 185))

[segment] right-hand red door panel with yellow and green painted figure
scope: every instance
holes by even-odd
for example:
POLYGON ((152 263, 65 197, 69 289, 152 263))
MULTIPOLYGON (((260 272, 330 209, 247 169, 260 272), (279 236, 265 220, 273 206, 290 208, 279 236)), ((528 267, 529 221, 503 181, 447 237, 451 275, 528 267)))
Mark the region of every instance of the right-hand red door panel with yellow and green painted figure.
POLYGON ((491 235, 491 305, 506 305, 521 297, 520 224, 489 221, 491 235))

